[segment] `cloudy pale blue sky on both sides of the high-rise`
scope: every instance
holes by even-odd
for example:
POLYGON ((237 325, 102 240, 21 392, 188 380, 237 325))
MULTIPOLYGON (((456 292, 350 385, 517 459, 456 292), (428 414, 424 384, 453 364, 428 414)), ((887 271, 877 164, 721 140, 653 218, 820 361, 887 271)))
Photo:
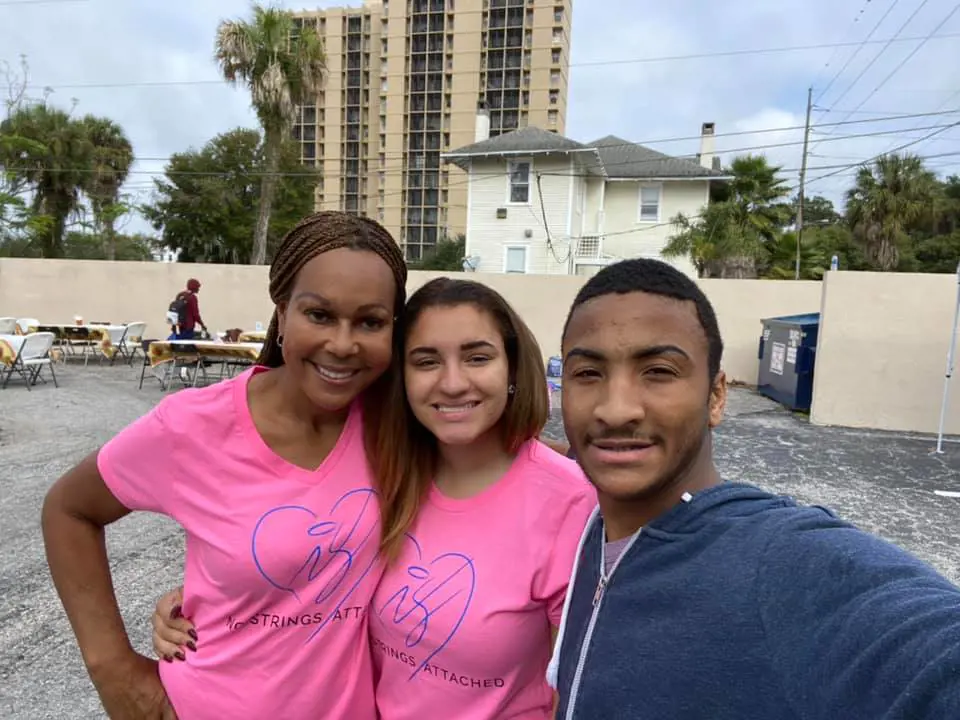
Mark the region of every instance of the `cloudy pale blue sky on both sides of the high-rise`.
MULTIPOLYGON (((151 173, 161 171, 171 153, 199 148, 237 126, 256 126, 245 91, 219 81, 212 59, 218 21, 248 15, 249 7, 241 0, 0 0, 0 60, 16 64, 26 55, 32 94, 51 87, 53 103, 69 107, 75 100, 76 112, 122 125, 138 158, 128 190, 146 199, 151 173)), ((697 152, 698 141, 658 141, 696 136, 701 123, 712 121, 725 160, 744 148, 794 143, 755 150, 784 167, 792 183, 802 131, 757 131, 802 125, 812 85, 822 108, 814 111, 816 124, 883 120, 815 128, 808 194, 839 200, 852 173, 818 181, 832 167, 817 168, 866 159, 936 129, 910 131, 917 126, 960 121, 960 112, 885 119, 960 108, 960 3, 575 0, 570 77, 569 137, 613 134, 686 155, 697 152), (857 46, 882 18, 873 40, 910 40, 857 46), (935 30, 954 37, 924 42, 935 30), (718 55, 831 43, 854 45, 718 55), (677 59, 689 55, 711 57, 677 59), (629 62, 645 58, 672 59, 629 62), (748 134, 722 137, 732 132, 748 134), (881 132, 891 134, 876 135, 881 132), (837 139, 864 133, 874 135, 837 139)), ((911 150, 958 153, 931 158, 929 165, 941 174, 960 172, 960 127, 911 150)))

